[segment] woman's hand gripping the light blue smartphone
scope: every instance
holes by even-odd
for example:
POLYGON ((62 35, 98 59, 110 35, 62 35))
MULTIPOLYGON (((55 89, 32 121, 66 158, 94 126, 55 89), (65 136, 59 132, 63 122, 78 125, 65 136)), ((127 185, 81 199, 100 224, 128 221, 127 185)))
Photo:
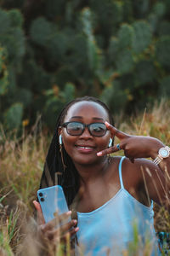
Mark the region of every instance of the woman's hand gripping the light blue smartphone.
POLYGON ((48 240, 56 245, 56 241, 66 241, 68 236, 75 235, 79 230, 78 227, 75 227, 77 225, 77 219, 71 219, 71 221, 56 228, 57 224, 61 224, 71 216, 71 211, 60 215, 55 213, 55 218, 46 224, 40 204, 37 201, 33 201, 33 204, 37 209, 37 223, 39 224, 37 231, 41 241, 45 239, 46 241, 48 240))

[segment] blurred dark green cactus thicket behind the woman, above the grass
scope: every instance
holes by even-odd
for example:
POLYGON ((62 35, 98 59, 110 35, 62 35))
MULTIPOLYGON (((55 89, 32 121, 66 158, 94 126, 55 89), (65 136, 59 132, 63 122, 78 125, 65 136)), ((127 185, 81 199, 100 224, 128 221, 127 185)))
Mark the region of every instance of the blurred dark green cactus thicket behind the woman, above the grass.
POLYGON ((169 0, 0 0, 0 123, 47 127, 65 102, 112 113, 170 98, 169 0))

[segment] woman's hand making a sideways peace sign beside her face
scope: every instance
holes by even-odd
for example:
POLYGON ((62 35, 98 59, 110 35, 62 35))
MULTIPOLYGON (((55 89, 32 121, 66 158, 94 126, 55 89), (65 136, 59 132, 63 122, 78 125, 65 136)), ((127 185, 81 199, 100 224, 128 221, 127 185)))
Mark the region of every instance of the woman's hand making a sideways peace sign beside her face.
MULTIPOLYGON (((124 154, 132 162, 135 158, 156 158, 158 149, 164 147, 161 141, 157 140, 154 137, 142 137, 142 136, 131 136, 127 133, 117 130, 114 126, 110 125, 108 122, 105 122, 105 125, 108 130, 111 131, 111 134, 116 136, 119 140, 119 146, 124 150, 124 154)), ((97 153, 98 156, 103 156, 105 154, 112 154, 120 149, 115 146, 111 148, 106 148, 105 150, 97 153)))

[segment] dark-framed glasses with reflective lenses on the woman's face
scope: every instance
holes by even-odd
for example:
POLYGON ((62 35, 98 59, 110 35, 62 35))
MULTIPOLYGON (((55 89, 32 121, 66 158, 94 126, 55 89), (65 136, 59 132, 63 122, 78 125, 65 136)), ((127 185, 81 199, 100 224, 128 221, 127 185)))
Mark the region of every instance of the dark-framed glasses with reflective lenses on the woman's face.
POLYGON ((88 127, 89 133, 94 137, 102 137, 107 131, 104 123, 92 123, 89 125, 85 125, 81 122, 66 122, 62 124, 61 127, 65 127, 67 133, 71 136, 82 135, 86 127, 88 127))

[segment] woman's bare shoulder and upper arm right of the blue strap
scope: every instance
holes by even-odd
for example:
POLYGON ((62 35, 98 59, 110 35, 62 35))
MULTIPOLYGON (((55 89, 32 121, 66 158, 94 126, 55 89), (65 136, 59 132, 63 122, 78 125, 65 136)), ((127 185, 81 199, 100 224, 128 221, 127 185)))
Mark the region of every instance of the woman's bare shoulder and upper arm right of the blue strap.
POLYGON ((128 158, 122 161, 122 182, 125 189, 145 206, 150 206, 150 200, 160 205, 166 205, 166 178, 159 166, 148 159, 128 158))

